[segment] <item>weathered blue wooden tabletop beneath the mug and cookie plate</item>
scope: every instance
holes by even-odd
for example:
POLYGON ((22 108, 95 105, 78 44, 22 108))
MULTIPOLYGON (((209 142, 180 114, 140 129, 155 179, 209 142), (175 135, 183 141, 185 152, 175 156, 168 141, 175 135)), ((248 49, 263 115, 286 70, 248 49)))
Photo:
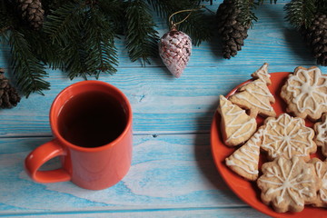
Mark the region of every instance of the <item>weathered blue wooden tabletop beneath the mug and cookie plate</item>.
MULTIPOLYGON (((210 126, 219 94, 250 78, 264 62, 269 71, 292 71, 315 64, 301 36, 284 21, 283 1, 263 5, 243 50, 231 60, 218 39, 193 47, 181 78, 161 60, 142 67, 131 63, 124 40, 117 39, 117 74, 100 80, 127 95, 134 110, 133 163, 124 179, 103 191, 73 183, 35 183, 24 171, 25 156, 52 138, 48 112, 70 81, 48 70, 51 90, 32 94, 14 109, 0 110, 0 216, 35 217, 264 217, 243 203, 223 182, 213 163, 210 126)), ((221 2, 209 6, 216 10, 221 2)), ((154 14, 155 16, 155 14, 154 14)), ((156 17, 158 31, 167 31, 156 17)), ((0 66, 8 69, 3 45, 0 66)), ((321 67, 327 74, 327 68, 321 67)), ((57 166, 57 161, 46 167, 57 166)))

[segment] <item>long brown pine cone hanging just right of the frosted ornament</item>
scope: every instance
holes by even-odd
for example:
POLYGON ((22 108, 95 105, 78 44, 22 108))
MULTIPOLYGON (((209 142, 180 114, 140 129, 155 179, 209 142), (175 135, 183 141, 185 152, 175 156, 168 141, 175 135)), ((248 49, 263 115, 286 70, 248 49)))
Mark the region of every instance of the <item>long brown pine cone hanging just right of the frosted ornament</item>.
POLYGON ((237 51, 242 50, 244 39, 248 36, 247 31, 250 26, 243 26, 239 22, 240 13, 233 0, 224 0, 216 13, 218 33, 223 40, 223 57, 226 59, 230 59, 237 54, 237 51))

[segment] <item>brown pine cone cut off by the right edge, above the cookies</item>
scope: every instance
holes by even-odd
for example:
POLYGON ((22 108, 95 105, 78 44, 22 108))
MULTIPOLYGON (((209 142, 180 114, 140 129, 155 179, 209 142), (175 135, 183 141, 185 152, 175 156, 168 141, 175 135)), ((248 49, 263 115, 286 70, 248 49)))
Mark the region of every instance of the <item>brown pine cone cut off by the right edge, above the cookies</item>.
POLYGON ((302 26, 301 33, 317 64, 327 66, 327 15, 315 15, 312 25, 308 28, 302 26))

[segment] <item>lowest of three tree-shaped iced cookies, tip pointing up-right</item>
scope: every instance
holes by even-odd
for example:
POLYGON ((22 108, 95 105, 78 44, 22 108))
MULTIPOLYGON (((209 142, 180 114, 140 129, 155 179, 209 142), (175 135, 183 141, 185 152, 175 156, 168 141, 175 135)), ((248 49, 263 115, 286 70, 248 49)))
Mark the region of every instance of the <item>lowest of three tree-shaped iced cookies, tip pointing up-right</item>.
POLYGON ((258 178, 262 136, 262 129, 259 128, 246 144, 243 144, 232 155, 225 159, 226 165, 232 169, 234 173, 241 175, 244 179, 249 181, 255 181, 258 178))

